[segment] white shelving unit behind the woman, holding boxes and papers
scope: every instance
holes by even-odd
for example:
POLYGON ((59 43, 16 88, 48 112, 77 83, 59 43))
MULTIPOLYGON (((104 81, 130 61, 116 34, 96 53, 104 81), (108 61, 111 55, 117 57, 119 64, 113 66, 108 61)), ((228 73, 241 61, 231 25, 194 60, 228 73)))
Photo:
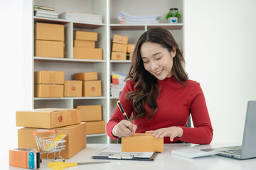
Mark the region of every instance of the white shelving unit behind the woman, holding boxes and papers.
MULTIPOLYGON (((102 105, 102 118, 107 121, 114 112, 118 98, 110 96, 110 74, 119 72, 127 74, 131 61, 110 60, 112 38, 114 34, 129 37, 129 44, 135 44, 140 35, 149 28, 161 26, 174 35, 178 45, 183 50, 183 1, 182 0, 33 0, 33 5, 51 6, 55 12, 76 11, 80 13, 100 14, 103 16, 102 24, 79 23, 63 19, 33 17, 33 23, 60 23, 65 25, 65 57, 49 58, 33 56, 33 72, 39 70, 59 70, 65 72, 65 80, 73 79, 77 72, 98 72, 98 78, 102 80, 101 97, 74 97, 74 98, 33 98, 33 108, 73 108, 76 105, 102 105), (169 8, 178 8, 181 18, 178 23, 167 23, 165 19, 169 8), (160 14, 159 24, 118 24, 117 13, 125 11, 132 15, 160 14), (103 60, 77 60, 73 59, 73 30, 96 31, 98 40, 96 47, 102 48, 103 60)), ((33 5, 31 6, 33 8, 33 5)), ((87 135, 88 143, 109 143, 107 135, 87 135)))

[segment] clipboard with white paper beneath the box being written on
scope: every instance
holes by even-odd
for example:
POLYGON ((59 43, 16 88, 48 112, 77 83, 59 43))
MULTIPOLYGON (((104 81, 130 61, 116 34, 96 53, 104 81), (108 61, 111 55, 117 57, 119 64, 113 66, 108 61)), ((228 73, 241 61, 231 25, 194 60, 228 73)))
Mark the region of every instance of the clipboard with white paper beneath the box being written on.
POLYGON ((93 159, 122 159, 137 161, 154 161, 159 152, 122 152, 121 145, 115 144, 102 149, 97 154, 92 155, 93 159))

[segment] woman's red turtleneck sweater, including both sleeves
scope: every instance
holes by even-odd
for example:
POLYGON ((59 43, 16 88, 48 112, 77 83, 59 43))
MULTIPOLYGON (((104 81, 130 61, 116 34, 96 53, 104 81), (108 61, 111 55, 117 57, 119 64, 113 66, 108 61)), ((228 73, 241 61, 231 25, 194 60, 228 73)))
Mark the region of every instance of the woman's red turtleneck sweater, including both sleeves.
MULTIPOLYGON (((124 94, 128 91, 134 91, 136 82, 127 81, 119 100, 127 113, 128 118, 134 114, 132 102, 124 98, 124 94)), ((213 128, 210 123, 206 100, 203 91, 198 82, 188 80, 183 86, 176 81, 175 77, 159 80, 161 85, 161 93, 156 99, 158 109, 154 113, 153 119, 149 120, 151 113, 148 106, 145 105, 147 115, 144 118, 133 120, 134 125, 137 125, 137 133, 144 133, 147 130, 157 130, 159 128, 169 128, 178 126, 183 129, 181 138, 174 138, 174 142, 182 140, 184 142, 194 144, 209 144, 213 139, 213 128), (191 114, 194 128, 186 128, 188 117, 191 114)), ((117 139, 112 135, 114 125, 123 120, 119 108, 115 108, 114 114, 107 123, 107 135, 112 139, 117 139)), ((171 143, 170 137, 164 137, 164 143, 171 143)))

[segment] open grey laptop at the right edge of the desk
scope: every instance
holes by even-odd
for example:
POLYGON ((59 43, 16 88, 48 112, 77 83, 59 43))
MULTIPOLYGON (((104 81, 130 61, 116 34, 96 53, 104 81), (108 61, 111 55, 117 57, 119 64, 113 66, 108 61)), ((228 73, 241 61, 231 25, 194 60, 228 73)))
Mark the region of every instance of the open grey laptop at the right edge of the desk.
POLYGON ((223 147, 218 149, 218 151, 218 155, 235 159, 250 159, 256 157, 256 101, 248 101, 247 103, 242 146, 223 147))

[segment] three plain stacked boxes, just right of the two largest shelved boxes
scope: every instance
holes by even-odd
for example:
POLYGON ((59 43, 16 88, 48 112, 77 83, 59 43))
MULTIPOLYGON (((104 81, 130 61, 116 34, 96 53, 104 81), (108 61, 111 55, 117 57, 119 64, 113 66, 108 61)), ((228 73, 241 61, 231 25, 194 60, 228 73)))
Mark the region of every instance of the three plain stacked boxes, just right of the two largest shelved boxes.
POLYGON ((95 48, 96 32, 74 31, 74 59, 102 60, 102 49, 95 48))

